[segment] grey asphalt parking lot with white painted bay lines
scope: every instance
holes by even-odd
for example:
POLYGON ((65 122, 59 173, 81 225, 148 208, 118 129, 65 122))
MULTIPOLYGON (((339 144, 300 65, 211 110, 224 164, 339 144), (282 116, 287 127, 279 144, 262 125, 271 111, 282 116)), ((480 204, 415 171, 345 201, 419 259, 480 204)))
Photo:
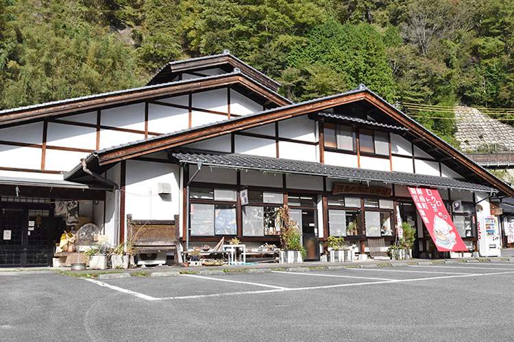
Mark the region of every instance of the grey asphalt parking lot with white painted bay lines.
POLYGON ((1 341, 511 341, 514 262, 0 275, 1 341))

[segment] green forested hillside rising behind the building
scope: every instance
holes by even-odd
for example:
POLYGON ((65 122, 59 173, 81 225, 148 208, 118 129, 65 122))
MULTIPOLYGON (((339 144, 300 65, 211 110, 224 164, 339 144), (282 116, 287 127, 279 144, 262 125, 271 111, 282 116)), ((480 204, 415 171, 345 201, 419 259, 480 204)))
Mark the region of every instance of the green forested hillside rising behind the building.
MULTIPOLYGON (((512 108, 513 32, 512 0, 0 0, 0 108, 141 86, 223 49, 293 101, 365 83, 399 105, 512 108)), ((452 142, 451 111, 411 114, 452 142)))

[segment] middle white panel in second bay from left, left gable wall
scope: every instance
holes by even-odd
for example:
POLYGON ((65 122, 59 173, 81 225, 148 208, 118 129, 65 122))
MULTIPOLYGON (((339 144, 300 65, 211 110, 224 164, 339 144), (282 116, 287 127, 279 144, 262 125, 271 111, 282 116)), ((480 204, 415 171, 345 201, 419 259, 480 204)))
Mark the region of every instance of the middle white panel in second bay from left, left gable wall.
POLYGON ((47 144, 72 148, 97 149, 97 129, 72 124, 48 123, 47 144))

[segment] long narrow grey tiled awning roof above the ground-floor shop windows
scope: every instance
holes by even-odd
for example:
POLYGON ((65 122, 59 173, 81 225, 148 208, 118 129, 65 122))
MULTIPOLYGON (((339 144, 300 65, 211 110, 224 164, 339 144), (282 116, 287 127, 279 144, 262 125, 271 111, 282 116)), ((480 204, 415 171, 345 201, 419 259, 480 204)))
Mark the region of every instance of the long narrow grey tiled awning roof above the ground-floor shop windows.
POLYGON ((289 159, 254 157, 236 154, 206 153, 197 150, 170 150, 169 153, 182 163, 198 163, 201 161, 205 166, 218 166, 220 168, 328 176, 334 179, 346 179, 349 181, 380 181, 384 183, 411 186, 443 187, 478 190, 484 192, 498 191, 485 185, 458 181, 448 177, 426 176, 423 174, 343 168, 341 166, 330 166, 308 161, 295 161, 289 159))

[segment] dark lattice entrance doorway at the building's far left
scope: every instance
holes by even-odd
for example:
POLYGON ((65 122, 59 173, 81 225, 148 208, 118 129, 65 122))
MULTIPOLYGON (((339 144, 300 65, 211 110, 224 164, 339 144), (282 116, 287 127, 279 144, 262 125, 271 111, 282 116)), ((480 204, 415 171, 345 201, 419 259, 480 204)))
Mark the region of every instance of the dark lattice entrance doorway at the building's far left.
POLYGON ((1 205, 0 233, 0 267, 50 264, 53 210, 48 205, 1 205))

